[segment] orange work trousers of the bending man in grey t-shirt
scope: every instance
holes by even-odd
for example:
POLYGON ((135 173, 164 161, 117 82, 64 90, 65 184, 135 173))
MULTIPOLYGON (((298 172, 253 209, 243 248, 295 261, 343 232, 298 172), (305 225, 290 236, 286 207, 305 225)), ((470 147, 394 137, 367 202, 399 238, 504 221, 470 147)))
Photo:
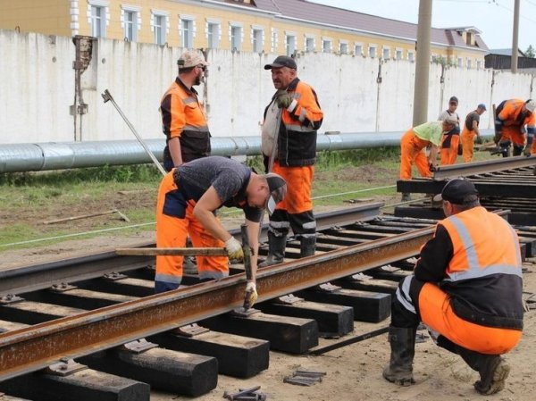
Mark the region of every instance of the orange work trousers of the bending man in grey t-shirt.
MULTIPOLYGON (((193 215, 196 202, 182 197, 173 180, 173 171, 168 172, 158 189, 156 204, 156 246, 184 247, 190 237, 195 247, 223 247, 222 240, 205 230, 193 215), (173 196, 171 196, 173 194, 173 196), (171 206, 171 207, 170 207, 171 206), (164 209, 179 211, 178 215, 164 214, 164 209)), ((197 256, 199 279, 220 279, 229 275, 227 256, 197 256)), ((155 281, 169 283, 166 288, 177 288, 182 280, 183 256, 156 256, 155 281)))

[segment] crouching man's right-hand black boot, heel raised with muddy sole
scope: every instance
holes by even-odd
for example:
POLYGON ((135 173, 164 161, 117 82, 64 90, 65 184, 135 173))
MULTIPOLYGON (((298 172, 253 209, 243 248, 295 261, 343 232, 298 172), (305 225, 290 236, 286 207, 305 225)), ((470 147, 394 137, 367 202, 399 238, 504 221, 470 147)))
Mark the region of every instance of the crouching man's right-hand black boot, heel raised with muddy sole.
POLYGON ((462 347, 458 353, 471 369, 480 373, 481 379, 473 384, 480 394, 489 396, 505 388, 510 365, 500 355, 485 355, 462 347))

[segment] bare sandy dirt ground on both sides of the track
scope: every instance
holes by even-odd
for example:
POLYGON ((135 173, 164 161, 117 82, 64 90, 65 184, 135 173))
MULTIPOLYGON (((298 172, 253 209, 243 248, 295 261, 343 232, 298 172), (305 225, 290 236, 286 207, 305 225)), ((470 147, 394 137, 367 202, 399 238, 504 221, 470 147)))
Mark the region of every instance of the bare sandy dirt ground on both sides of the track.
MULTIPOLYGON (((355 171, 353 171, 355 172, 355 171)), ((365 173, 361 177, 373 176, 365 173)), ((355 180, 354 175, 354 180, 355 180)), ((392 181, 391 181, 392 182, 392 181)), ((377 183, 388 185, 388 183, 377 183)), ((153 207, 154 194, 140 192, 135 196, 111 196, 107 201, 98 205, 80 202, 76 209, 65 211, 50 210, 28 211, 19 214, 33 221, 46 221, 62 216, 73 216, 92 213, 95 210, 130 208, 130 202, 153 207)), ((393 203, 393 199, 390 199, 393 203)), ((0 228, 2 224, 13 221, 13 214, 0 211, 0 228)), ((109 221, 111 227, 128 224, 119 221, 118 215, 98 217, 109 221)), ((89 219, 91 220, 91 219, 89 219)), ((90 230, 93 221, 80 220, 66 222, 75 225, 77 231, 90 230)), ((230 224, 230 223, 229 223, 230 224)), ((41 224, 42 226, 42 224, 41 224)), ((235 225, 233 227, 236 227, 235 225)), ((139 231, 128 236, 107 234, 93 239, 70 239, 53 246, 32 246, 28 249, 6 250, 0 248, 3 269, 20 264, 46 262, 79 255, 84 250, 107 251, 115 247, 131 246, 145 241, 154 241, 152 231, 139 231)), ((536 293, 536 259, 525 263, 523 273, 524 289, 536 293)), ((384 322, 389 324, 389 320, 384 322)), ((356 322, 355 335, 376 329, 368 323, 356 322)), ((423 332, 424 333, 424 332, 423 332)), ((321 345, 327 345, 329 340, 322 340, 321 345)), ((506 388, 497 395, 483 397, 473 389, 473 381, 477 380, 476 372, 471 371, 461 358, 449 354, 446 350, 436 347, 430 338, 418 343, 415 352, 415 380, 411 387, 401 388, 391 384, 381 377, 381 370, 389 360, 389 344, 387 334, 369 338, 354 345, 339 348, 320 356, 285 355, 277 352, 270 353, 270 368, 248 380, 237 380, 227 376, 219 376, 218 386, 210 393, 195 398, 199 401, 216 401, 223 399, 224 391, 235 393, 239 388, 261 386, 260 390, 267 395, 267 400, 274 401, 468 401, 468 400, 500 400, 500 401, 532 401, 536 397, 536 380, 533 374, 536 368, 536 313, 534 310, 525 313, 523 339, 518 347, 507 355, 507 361, 512 366, 512 372, 507 380, 506 388), (326 372, 322 382, 311 387, 302 387, 284 383, 283 379, 297 370, 326 372)), ((153 392, 153 401, 189 400, 172 394, 153 392)))

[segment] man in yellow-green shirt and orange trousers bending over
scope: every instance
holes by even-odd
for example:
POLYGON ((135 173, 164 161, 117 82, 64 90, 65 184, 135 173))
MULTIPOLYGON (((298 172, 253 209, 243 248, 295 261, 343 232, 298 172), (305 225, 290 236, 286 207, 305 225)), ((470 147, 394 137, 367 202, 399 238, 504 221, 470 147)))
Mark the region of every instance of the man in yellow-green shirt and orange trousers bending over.
MULTIPOLYGON (((422 177, 431 177, 441 137, 445 132, 454 129, 456 123, 457 118, 449 115, 443 121, 425 122, 406 131, 400 139, 400 180, 411 180, 414 163, 422 177), (424 150, 426 146, 431 146, 428 157, 424 150)), ((402 202, 409 200, 409 194, 403 193, 402 202)))

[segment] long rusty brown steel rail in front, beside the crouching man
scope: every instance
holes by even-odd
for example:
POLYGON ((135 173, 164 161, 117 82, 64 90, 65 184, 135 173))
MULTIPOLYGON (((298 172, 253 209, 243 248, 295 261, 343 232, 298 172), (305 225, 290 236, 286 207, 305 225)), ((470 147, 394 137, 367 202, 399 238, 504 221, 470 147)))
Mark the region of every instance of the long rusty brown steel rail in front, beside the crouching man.
MULTIPOLYGON (((259 270, 258 302, 415 256, 434 227, 259 270)), ((230 312, 245 273, 0 334, 0 380, 230 312)))

